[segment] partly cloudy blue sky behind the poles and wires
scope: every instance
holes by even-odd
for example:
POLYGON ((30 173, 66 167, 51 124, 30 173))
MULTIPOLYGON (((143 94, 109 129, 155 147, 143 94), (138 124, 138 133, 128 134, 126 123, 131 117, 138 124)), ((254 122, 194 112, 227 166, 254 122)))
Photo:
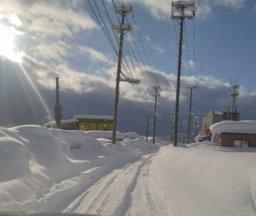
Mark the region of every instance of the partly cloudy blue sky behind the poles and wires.
MULTIPOLYGON (((102 1, 89 2, 118 50, 102 1)), ((103 2, 111 22, 117 25, 112 0, 103 2)), ((148 108, 149 118, 153 118, 152 86, 157 84, 161 85, 157 100, 161 117, 156 120, 156 134, 170 134, 180 26, 171 19, 171 1, 124 0, 126 6, 130 3, 135 15, 134 19, 128 16, 125 23, 131 23, 134 30, 125 33, 123 62, 126 65, 127 61, 129 76, 141 83, 120 83, 117 129, 145 134, 148 108)), ((120 6, 121 1, 114 4, 120 6)), ((196 87, 192 112, 201 119, 208 110, 227 109, 230 78, 234 81, 236 76, 240 119, 256 119, 255 15, 252 0, 201 0, 194 19, 185 20, 179 123, 188 120, 187 87, 196 87)), ((75 115, 113 115, 118 59, 100 24, 88 1, 1 1, 1 126, 42 125, 54 120, 56 74, 65 120, 75 115)))

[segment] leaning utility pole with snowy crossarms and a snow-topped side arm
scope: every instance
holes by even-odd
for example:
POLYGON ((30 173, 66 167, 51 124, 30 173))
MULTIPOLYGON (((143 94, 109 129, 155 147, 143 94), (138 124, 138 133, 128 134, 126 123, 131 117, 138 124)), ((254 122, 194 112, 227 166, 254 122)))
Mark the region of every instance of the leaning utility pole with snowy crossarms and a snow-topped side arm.
POLYGON ((122 16, 122 23, 120 25, 113 24, 112 26, 113 29, 115 30, 116 35, 120 34, 117 75, 116 75, 116 95, 115 95, 115 106, 114 106, 112 144, 116 143, 116 123, 117 123, 117 109, 118 109, 118 99, 119 99, 119 82, 124 81, 124 82, 129 82, 134 84, 140 83, 140 80, 134 80, 134 79, 128 78, 121 71, 122 53, 124 48, 124 31, 128 31, 130 33, 132 33, 133 31, 133 27, 130 24, 124 24, 124 18, 125 16, 134 15, 134 11, 132 10, 132 6, 126 7, 125 5, 121 7, 115 6, 115 10, 118 16, 122 16), (125 79, 120 79, 120 73, 125 77, 125 79))

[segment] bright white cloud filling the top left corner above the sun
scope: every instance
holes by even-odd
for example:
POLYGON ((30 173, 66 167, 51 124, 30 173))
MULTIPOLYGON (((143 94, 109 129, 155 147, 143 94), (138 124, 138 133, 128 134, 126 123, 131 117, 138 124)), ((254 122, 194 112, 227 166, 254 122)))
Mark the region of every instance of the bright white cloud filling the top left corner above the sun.
POLYGON ((99 28, 82 1, 1 1, 1 14, 10 23, 20 25, 40 36, 72 37, 85 29, 99 28))

